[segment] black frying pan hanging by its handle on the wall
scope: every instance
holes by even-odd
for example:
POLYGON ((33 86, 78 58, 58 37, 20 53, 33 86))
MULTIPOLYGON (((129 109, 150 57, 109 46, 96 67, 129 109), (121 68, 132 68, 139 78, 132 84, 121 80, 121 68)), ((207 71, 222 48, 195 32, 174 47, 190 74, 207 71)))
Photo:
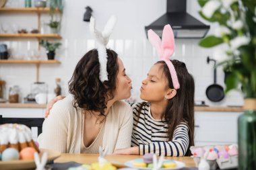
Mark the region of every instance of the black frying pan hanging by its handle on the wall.
POLYGON ((210 61, 214 61, 214 84, 210 85, 206 89, 206 96, 210 101, 221 101, 224 99, 224 89, 221 85, 216 84, 216 60, 209 58, 207 56, 207 63, 209 64, 210 61))

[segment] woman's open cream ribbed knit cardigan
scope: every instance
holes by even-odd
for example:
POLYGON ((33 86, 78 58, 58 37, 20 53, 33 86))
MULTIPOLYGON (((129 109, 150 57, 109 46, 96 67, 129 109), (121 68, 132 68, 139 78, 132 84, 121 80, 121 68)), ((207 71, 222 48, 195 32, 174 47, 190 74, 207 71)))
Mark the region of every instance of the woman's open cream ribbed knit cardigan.
MULTIPOLYGON (((73 107, 73 95, 53 105, 48 118, 38 136, 40 148, 48 148, 61 153, 81 153, 84 116, 81 108, 73 107)), ((106 116, 102 148, 113 153, 118 148, 131 146, 133 114, 129 104, 116 101, 106 116)))

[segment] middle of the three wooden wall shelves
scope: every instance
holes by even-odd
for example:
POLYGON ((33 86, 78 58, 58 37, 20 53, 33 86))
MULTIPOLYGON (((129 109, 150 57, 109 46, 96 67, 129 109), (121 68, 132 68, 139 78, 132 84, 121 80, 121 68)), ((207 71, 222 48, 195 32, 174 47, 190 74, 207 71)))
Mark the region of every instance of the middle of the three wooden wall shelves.
POLYGON ((0 38, 61 38, 59 34, 0 34, 0 38))

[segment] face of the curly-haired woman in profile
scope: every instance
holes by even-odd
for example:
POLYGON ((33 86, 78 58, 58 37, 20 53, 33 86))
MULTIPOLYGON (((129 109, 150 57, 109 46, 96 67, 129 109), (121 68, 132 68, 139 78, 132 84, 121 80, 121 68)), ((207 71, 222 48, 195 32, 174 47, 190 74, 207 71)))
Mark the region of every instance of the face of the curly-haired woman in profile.
POLYGON ((120 58, 118 58, 119 73, 117 75, 117 91, 115 98, 117 100, 127 99, 131 96, 131 79, 125 73, 125 67, 120 58))

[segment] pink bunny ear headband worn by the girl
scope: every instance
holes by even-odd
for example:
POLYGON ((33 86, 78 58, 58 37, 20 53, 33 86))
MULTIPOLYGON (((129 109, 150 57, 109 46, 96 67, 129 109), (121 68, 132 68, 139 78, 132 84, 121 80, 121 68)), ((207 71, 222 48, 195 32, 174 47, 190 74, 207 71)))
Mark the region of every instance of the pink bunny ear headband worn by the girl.
POLYGON ((174 86, 174 89, 179 89, 180 84, 177 77, 177 73, 174 69, 174 66, 172 65, 172 62, 170 62, 169 59, 174 52, 175 46, 172 28, 170 27, 169 24, 164 26, 164 30, 162 32, 162 42, 160 37, 153 30, 148 30, 148 40, 150 40, 152 46, 156 48, 160 60, 163 60, 168 66, 170 76, 172 77, 172 84, 174 86))

